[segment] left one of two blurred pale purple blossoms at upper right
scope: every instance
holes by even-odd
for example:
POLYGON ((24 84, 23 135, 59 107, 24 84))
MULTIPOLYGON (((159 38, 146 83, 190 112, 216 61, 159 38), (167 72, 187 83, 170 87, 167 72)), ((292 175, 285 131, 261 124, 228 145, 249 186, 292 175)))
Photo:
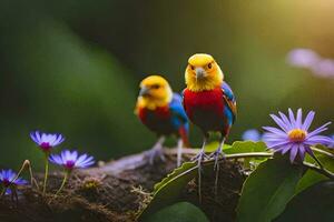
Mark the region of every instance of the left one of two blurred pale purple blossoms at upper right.
POLYGON ((312 68, 320 59, 318 54, 311 49, 294 49, 287 56, 288 63, 299 68, 312 68))

